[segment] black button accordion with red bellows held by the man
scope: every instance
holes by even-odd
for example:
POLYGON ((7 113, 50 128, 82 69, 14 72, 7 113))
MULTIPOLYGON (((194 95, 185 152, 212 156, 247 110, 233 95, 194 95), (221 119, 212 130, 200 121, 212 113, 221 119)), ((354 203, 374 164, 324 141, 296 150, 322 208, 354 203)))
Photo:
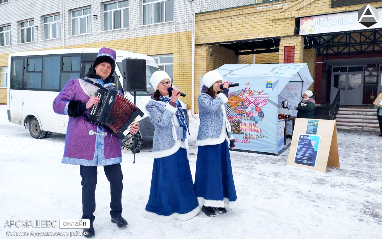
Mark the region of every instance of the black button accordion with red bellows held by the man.
POLYGON ((97 106, 92 106, 87 119, 97 125, 103 125, 111 133, 123 139, 130 133, 144 115, 129 99, 115 89, 98 89, 95 93, 100 99, 97 106))

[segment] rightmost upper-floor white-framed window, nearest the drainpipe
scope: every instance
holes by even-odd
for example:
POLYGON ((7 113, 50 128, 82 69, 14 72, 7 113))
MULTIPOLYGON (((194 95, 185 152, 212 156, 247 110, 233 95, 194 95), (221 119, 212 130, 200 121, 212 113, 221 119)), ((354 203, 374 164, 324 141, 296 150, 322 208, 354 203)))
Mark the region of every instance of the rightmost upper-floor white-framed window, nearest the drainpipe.
POLYGON ((174 0, 143 0, 143 25, 174 20, 174 0))

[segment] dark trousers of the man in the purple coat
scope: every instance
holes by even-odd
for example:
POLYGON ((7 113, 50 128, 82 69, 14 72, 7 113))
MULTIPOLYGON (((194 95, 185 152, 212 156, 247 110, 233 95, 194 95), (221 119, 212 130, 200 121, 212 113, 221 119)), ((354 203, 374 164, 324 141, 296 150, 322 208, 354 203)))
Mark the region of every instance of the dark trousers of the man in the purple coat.
MULTIPOLYGON (((110 182, 110 216, 116 218, 122 213, 122 171, 121 164, 104 166, 105 175, 110 182)), ((80 166, 82 177, 82 219, 90 219, 93 223, 95 216, 95 185, 97 185, 97 166, 80 166)))

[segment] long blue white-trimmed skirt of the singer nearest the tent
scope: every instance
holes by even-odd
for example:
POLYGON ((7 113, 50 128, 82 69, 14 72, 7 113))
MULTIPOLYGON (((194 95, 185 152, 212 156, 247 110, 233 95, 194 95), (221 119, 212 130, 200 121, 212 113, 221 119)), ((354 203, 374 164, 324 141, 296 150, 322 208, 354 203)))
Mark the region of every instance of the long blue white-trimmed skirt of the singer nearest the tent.
POLYGON ((237 206, 227 141, 219 145, 198 146, 195 191, 199 204, 204 206, 237 206))

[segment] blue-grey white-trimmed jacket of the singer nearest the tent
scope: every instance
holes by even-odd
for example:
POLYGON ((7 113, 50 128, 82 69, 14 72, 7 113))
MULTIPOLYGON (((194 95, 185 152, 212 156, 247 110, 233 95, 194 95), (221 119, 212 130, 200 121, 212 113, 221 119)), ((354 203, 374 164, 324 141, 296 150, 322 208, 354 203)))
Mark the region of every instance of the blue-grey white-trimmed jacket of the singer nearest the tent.
MULTIPOLYGON (((196 146, 218 145, 227 140, 230 147, 234 147, 234 141, 231 134, 231 125, 227 118, 228 98, 224 93, 219 93, 217 98, 213 99, 207 94, 208 88, 202 87, 202 93, 199 95, 199 132, 197 133, 196 146)), ((228 94, 228 91, 226 92, 228 94)))

